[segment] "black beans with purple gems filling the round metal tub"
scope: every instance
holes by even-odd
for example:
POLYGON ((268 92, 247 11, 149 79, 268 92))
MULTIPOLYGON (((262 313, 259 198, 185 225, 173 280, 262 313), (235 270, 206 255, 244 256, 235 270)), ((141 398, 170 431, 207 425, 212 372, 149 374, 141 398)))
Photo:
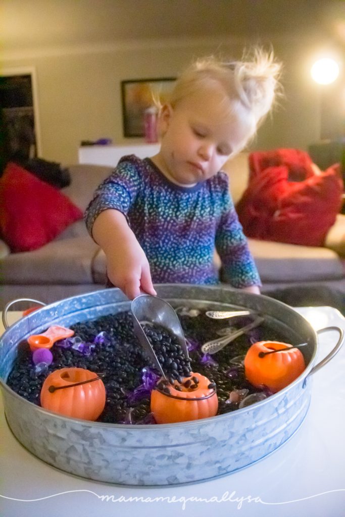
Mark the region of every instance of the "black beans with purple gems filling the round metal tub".
MULTIPOLYGON (((245 354, 252 343, 262 340, 289 343, 291 336, 273 329, 264 321, 260 327, 236 338, 216 354, 203 354, 200 348, 206 341, 244 327, 252 321, 251 316, 210 320, 205 310, 176 308, 187 341, 190 366, 181 356, 178 357, 178 349, 173 355, 174 337, 166 330, 157 327, 146 329, 147 334, 153 330, 156 338, 158 334, 159 343, 156 347, 160 348, 160 352, 164 355, 165 347, 172 355, 171 361, 168 358, 170 378, 179 380, 181 376, 174 367, 180 366, 186 375, 191 369, 210 379, 210 383, 215 384, 217 389, 217 414, 229 413, 269 397, 272 392, 267 388, 256 388, 246 380, 245 354)), ((50 349, 50 364, 43 361, 35 365, 28 343, 22 342, 7 380, 9 387, 26 400, 40 405, 42 385, 54 370, 70 367, 91 370, 102 375, 106 387, 106 405, 97 421, 155 424, 150 411, 150 396, 160 376, 134 336, 131 313, 101 316, 94 321, 71 325, 70 328, 74 331, 73 337, 55 342, 50 349)), ((159 359, 160 362, 161 359, 163 357, 159 359)))

